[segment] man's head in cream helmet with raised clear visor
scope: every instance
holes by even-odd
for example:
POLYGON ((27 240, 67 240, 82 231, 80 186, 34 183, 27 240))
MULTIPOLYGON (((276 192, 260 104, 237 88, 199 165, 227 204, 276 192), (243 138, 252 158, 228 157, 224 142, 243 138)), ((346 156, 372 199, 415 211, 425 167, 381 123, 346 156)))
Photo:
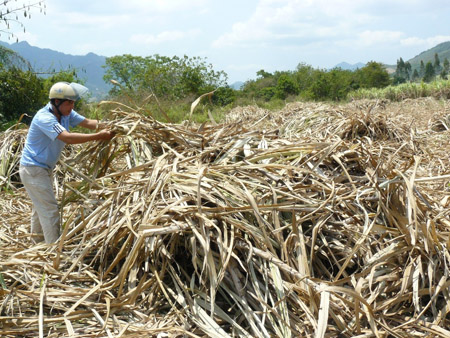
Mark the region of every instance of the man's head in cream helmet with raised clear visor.
POLYGON ((88 89, 78 83, 57 82, 50 88, 48 97, 60 115, 69 115, 75 101, 87 92, 88 89))

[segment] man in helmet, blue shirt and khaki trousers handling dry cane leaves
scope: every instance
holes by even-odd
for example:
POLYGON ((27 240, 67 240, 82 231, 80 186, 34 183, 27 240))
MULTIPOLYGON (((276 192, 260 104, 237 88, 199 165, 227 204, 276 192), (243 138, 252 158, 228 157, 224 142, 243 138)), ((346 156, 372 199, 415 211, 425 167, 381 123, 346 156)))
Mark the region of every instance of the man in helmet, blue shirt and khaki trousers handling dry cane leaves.
POLYGON ((98 129, 99 121, 90 120, 73 110, 74 103, 88 89, 77 83, 58 82, 50 89, 50 102, 34 116, 20 159, 19 174, 31 198, 32 240, 54 243, 60 236, 58 203, 53 191, 52 171, 66 143, 78 144, 110 140, 114 133, 101 130, 93 134, 71 133, 77 125, 98 129))

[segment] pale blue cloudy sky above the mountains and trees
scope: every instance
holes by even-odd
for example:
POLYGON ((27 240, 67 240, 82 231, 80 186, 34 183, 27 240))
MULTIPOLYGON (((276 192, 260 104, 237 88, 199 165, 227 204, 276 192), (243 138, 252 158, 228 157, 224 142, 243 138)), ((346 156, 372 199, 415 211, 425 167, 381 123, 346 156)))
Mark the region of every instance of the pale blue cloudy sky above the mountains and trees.
MULTIPOLYGON (((450 41, 449 0, 46 0, 45 4, 45 15, 34 9, 30 19, 20 20, 25 33, 11 26, 19 41, 73 55, 201 57, 214 70, 224 71, 229 84, 254 79, 261 69, 295 70, 299 64, 320 69, 341 62, 395 65, 400 57, 406 61, 450 41)), ((12 42, 5 34, 0 40, 12 42)))

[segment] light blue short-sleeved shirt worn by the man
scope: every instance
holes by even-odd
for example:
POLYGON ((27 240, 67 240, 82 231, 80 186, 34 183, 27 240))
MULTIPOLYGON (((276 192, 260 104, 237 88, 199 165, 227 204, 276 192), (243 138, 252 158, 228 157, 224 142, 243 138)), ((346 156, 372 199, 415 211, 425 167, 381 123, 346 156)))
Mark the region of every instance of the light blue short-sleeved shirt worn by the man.
POLYGON ((72 110, 70 115, 61 116, 61 122, 58 122, 50 108, 49 103, 39 110, 31 121, 20 159, 20 164, 23 166, 53 169, 66 145, 57 139, 58 135, 64 130, 76 127, 85 119, 84 116, 72 110))

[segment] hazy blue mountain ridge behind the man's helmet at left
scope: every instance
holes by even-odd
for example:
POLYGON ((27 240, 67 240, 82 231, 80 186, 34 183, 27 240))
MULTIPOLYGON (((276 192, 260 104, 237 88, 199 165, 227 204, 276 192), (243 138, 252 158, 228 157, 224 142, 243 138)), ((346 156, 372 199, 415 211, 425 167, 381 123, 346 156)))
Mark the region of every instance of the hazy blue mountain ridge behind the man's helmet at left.
MULTIPOLYGON (((31 46, 25 41, 8 44, 0 41, 0 45, 15 51, 26 59, 37 73, 48 73, 59 70, 76 69, 78 77, 85 81, 93 98, 104 97, 111 86, 103 81, 106 57, 94 53, 86 55, 70 55, 51 49, 31 46)), ((45 76, 45 75, 43 75, 45 76)))

